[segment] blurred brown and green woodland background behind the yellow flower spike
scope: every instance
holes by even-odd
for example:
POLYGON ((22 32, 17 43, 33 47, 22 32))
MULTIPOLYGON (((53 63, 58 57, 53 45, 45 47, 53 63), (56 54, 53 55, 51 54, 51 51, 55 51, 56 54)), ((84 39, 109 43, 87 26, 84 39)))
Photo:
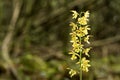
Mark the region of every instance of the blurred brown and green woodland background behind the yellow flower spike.
POLYGON ((120 80, 120 0, 0 0, 0 80, 79 80, 66 69, 70 10, 90 12, 83 80, 120 80))

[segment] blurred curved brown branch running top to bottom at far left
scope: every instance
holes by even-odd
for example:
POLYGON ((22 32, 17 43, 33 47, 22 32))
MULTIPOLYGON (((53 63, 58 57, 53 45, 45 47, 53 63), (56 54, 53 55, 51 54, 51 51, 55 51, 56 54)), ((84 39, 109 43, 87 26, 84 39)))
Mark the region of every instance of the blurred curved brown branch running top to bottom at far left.
POLYGON ((16 77, 17 80, 20 80, 20 77, 18 76, 17 70, 10 58, 9 52, 10 52, 10 46, 12 44, 12 38, 14 35, 16 22, 18 20, 21 5, 22 5, 22 3, 19 1, 20 0, 13 1, 14 11, 13 11, 12 19, 8 26, 8 33, 6 34, 2 44, 2 58, 8 64, 8 69, 11 70, 11 72, 13 73, 13 75, 16 77))

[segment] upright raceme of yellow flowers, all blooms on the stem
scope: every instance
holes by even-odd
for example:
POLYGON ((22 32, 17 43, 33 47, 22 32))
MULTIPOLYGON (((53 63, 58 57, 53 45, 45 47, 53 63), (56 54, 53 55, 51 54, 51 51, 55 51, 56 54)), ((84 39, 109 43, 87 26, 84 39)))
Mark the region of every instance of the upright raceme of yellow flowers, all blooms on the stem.
MULTIPOLYGON (((89 57, 89 51, 91 48, 84 48, 84 43, 89 42, 89 11, 78 13, 74 10, 71 11, 72 19, 74 22, 70 22, 70 26, 72 27, 72 32, 70 33, 71 36, 71 43, 72 43, 72 50, 69 52, 71 55, 71 60, 75 60, 76 65, 79 65, 79 69, 82 71, 88 72, 88 68, 90 67, 89 60, 86 57, 89 57), (85 55, 86 57, 82 57, 85 55)), ((68 68, 70 76, 74 76, 75 74, 79 73, 78 70, 68 68)))

